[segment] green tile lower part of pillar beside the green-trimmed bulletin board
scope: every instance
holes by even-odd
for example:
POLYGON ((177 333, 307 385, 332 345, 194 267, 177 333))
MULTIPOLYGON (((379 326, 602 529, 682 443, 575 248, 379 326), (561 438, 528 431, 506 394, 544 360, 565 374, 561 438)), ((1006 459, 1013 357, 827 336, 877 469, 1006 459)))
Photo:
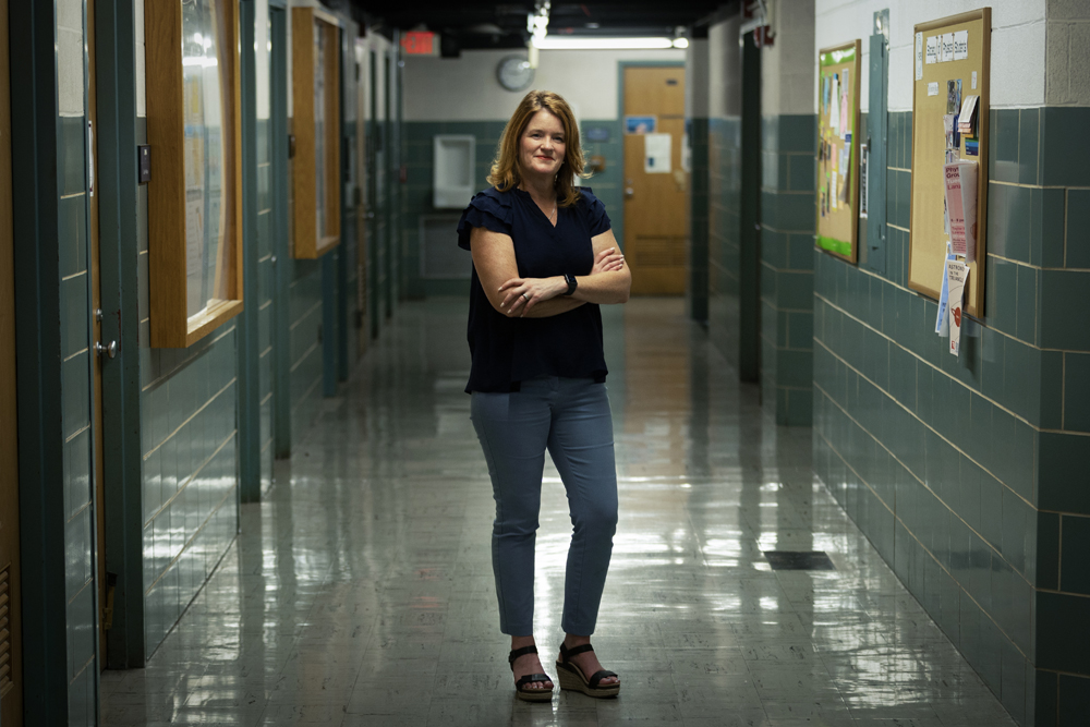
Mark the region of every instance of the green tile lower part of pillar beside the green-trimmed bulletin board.
POLYGON ((761 122, 761 387, 777 424, 809 426, 813 393, 813 116, 761 122))

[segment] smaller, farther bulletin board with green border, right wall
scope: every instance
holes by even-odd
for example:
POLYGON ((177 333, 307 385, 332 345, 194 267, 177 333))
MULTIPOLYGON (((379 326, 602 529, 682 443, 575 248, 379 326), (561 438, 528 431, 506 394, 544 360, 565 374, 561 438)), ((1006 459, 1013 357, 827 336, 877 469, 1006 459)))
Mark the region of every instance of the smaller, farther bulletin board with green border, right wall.
POLYGON ((859 39, 818 53, 819 250, 856 262, 859 235, 859 39))

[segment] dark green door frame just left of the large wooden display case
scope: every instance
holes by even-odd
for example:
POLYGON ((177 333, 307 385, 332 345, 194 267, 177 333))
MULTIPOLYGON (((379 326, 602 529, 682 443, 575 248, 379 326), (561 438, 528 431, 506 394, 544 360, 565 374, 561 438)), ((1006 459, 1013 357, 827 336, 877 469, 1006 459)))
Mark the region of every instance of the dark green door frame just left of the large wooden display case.
MULTIPOLYGON (((104 340, 119 343, 102 366, 105 557, 112 582, 112 623, 106 631, 104 666, 131 669, 146 663, 144 650, 144 498, 141 441, 140 222, 134 205, 147 197, 134 170, 136 147, 147 130, 136 117, 136 12, 130 0, 96 0, 95 131, 99 279, 104 340)), ((145 218, 146 219, 146 218, 145 218)), ((109 606, 109 601, 104 606, 109 606)))

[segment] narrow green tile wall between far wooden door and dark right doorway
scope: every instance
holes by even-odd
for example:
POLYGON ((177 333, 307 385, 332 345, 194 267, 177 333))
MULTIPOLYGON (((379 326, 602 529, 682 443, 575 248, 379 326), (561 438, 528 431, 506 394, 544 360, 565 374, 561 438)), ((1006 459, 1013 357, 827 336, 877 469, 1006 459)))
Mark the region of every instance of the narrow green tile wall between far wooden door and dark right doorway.
POLYGON ((707 328, 715 347, 738 367, 739 194, 741 120, 707 120, 707 328))

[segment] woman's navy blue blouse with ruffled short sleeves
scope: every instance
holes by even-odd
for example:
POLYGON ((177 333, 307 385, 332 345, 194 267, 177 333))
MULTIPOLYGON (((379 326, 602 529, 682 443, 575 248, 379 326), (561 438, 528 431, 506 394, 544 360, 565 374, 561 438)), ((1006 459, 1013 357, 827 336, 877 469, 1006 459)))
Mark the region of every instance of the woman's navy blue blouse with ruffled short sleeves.
MULTIPOLYGON (((590 275, 591 238, 610 229, 605 205, 580 187, 574 205, 557 209, 556 227, 529 192, 492 187, 470 201, 458 222, 458 244, 470 249, 470 233, 483 227, 514 242, 519 277, 590 275)), ((602 313, 593 303, 547 318, 511 318, 492 306, 476 268, 470 281, 468 338, 473 356, 465 391, 518 391, 535 376, 593 378, 604 381, 602 313)))

